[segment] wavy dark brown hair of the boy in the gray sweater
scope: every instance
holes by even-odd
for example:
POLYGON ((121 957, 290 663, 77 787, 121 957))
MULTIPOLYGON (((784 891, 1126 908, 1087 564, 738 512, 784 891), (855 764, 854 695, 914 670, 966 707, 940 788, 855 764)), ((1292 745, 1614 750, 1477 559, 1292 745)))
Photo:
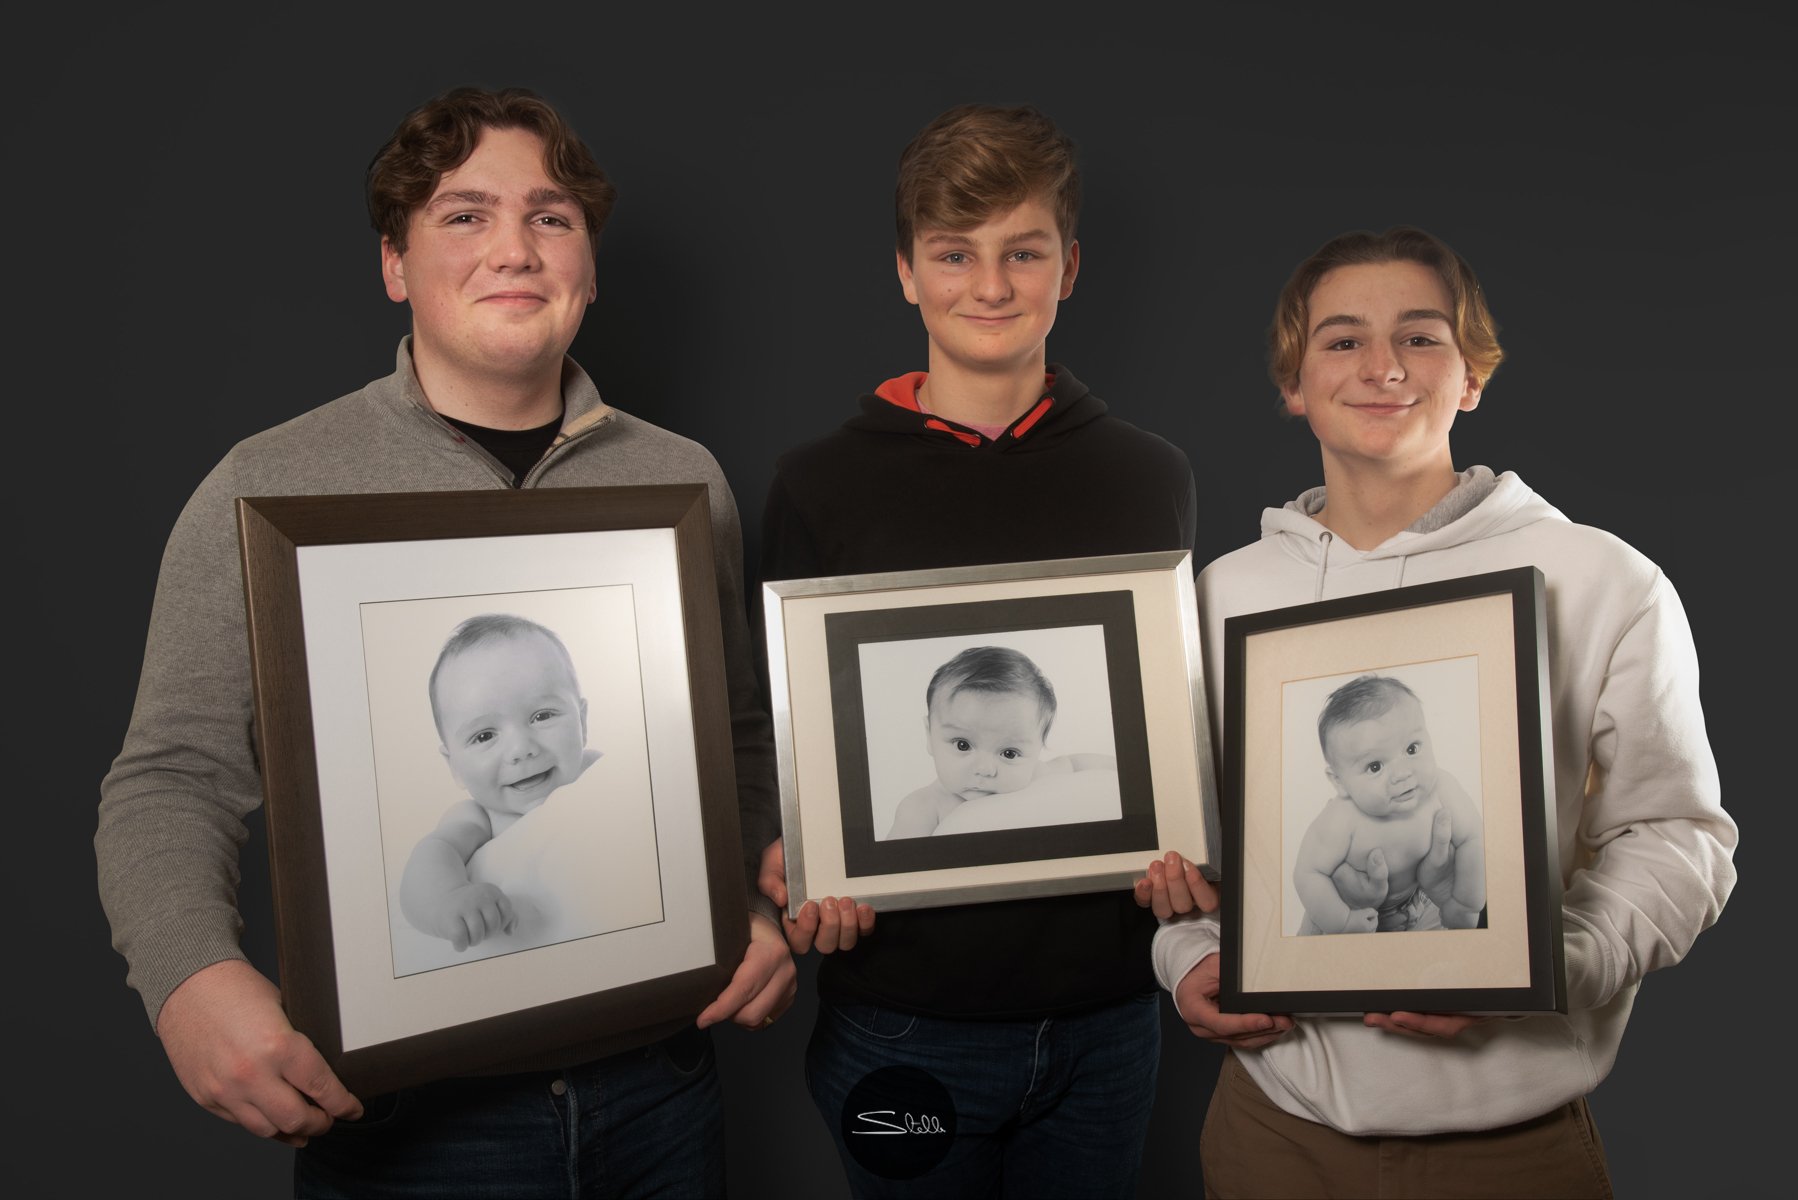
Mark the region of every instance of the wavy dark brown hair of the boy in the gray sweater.
POLYGON ((437 180, 467 162, 485 130, 527 130, 543 140, 543 169, 581 205, 588 243, 599 254, 599 230, 619 189, 561 113, 529 88, 451 88, 406 113, 369 164, 374 232, 405 254, 412 214, 432 198, 437 180))

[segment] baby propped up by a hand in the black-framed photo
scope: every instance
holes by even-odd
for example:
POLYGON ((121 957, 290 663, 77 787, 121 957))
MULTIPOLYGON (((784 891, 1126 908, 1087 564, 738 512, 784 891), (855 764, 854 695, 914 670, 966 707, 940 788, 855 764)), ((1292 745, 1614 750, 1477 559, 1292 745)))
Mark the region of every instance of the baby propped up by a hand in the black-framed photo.
POLYGON ((1300 934, 1473 928, 1485 909, 1480 810, 1437 766, 1424 705, 1361 675, 1318 714, 1334 795, 1298 846, 1300 934))

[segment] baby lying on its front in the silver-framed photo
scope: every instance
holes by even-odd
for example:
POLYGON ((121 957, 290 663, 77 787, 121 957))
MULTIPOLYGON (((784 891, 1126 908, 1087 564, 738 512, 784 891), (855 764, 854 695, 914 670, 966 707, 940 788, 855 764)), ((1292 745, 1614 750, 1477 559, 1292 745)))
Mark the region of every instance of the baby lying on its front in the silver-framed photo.
POLYGON ((1117 759, 1109 754, 1048 757, 1054 721, 1055 689, 1028 655, 973 646, 944 662, 924 689, 924 739, 937 777, 899 801, 886 837, 955 831, 949 819, 964 804, 1025 792, 1043 777, 1109 772, 1115 779, 1117 759))

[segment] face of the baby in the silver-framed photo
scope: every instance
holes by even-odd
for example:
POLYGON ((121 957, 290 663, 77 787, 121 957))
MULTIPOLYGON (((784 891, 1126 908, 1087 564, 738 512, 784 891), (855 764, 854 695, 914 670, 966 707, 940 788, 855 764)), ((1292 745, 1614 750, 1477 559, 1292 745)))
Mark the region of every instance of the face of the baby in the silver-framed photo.
POLYGON ((964 801, 1016 792, 1043 765, 1043 705, 1028 693, 939 694, 924 725, 937 783, 964 801))

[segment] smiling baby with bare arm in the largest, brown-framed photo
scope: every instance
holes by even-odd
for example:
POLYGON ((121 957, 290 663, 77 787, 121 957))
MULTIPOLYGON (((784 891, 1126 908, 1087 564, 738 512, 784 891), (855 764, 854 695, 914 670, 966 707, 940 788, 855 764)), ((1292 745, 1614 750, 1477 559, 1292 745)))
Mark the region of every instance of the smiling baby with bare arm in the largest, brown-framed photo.
POLYGON ((509 613, 469 617, 430 676, 432 716, 450 777, 467 793, 419 838, 399 883, 414 928, 467 950, 512 932, 500 887, 469 878, 469 858, 599 759, 586 748, 586 700, 568 648, 509 613))

